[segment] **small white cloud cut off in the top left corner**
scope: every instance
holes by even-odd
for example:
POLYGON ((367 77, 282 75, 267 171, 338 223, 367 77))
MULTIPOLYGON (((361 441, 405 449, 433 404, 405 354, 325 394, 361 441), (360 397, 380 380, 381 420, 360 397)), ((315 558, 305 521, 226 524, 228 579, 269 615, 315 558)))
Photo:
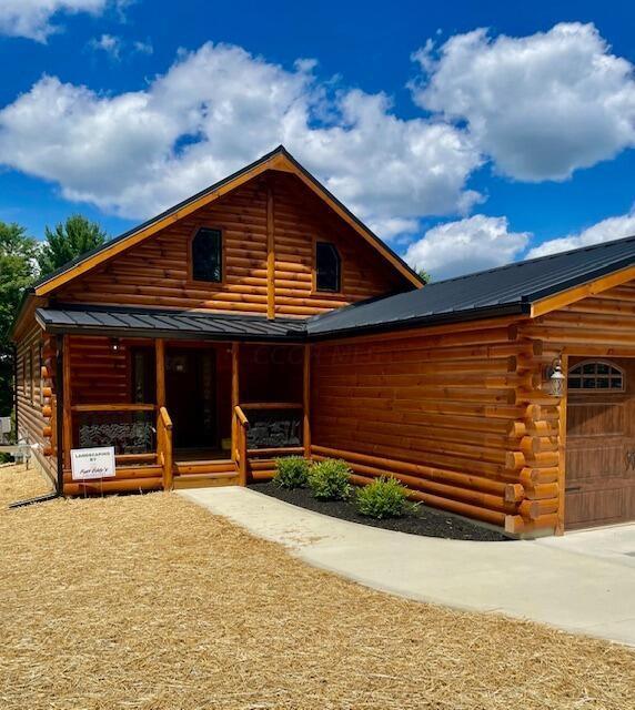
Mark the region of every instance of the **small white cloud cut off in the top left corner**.
POLYGON ((54 17, 67 12, 103 12, 111 0, 1 0, 0 34, 26 37, 38 42, 60 30, 54 17))

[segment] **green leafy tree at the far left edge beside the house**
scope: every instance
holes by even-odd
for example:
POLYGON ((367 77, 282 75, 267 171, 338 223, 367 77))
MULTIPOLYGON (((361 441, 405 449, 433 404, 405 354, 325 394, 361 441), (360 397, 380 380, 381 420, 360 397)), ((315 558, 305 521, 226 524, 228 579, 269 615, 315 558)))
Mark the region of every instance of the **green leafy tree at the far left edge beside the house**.
POLYGON ((0 222, 0 416, 8 416, 13 403, 13 346, 9 328, 22 292, 36 278, 37 253, 37 242, 23 226, 0 222))

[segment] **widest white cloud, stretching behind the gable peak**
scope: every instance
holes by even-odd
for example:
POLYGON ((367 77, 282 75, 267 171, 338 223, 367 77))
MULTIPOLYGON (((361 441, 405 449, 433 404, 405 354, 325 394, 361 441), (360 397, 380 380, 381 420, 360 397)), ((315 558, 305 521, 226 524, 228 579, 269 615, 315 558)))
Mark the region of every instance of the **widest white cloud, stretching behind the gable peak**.
POLYGON ((383 94, 333 92, 314 65, 206 43, 135 92, 43 77, 0 111, 0 163, 137 219, 283 143, 387 237, 480 199, 465 187, 481 156, 464 131, 401 120, 383 94))

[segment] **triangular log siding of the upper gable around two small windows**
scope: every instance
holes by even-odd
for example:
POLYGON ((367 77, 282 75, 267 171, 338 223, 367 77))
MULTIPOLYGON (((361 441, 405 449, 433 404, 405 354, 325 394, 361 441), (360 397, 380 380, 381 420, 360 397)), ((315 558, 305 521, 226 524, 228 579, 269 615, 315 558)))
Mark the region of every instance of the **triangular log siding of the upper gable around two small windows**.
POLYGON ((268 173, 60 288, 60 302, 266 314, 266 189, 274 191, 278 315, 306 316, 404 287, 404 280, 295 178, 268 173), (190 239, 223 231, 222 284, 190 278, 190 239), (343 293, 312 293, 313 240, 335 242, 343 293))

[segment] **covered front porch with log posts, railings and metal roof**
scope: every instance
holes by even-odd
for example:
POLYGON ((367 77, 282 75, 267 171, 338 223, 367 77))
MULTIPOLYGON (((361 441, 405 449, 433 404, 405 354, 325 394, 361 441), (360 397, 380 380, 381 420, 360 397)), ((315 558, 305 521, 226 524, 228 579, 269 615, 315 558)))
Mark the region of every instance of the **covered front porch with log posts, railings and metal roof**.
POLYGON ((39 315, 53 336, 51 433, 57 418, 64 494, 246 485, 271 477, 279 456, 310 455, 310 352, 299 322, 215 316, 233 337, 196 337, 210 316, 162 314, 149 333, 139 313, 39 315), (73 479, 71 449, 102 446, 114 447, 115 476, 73 479))

